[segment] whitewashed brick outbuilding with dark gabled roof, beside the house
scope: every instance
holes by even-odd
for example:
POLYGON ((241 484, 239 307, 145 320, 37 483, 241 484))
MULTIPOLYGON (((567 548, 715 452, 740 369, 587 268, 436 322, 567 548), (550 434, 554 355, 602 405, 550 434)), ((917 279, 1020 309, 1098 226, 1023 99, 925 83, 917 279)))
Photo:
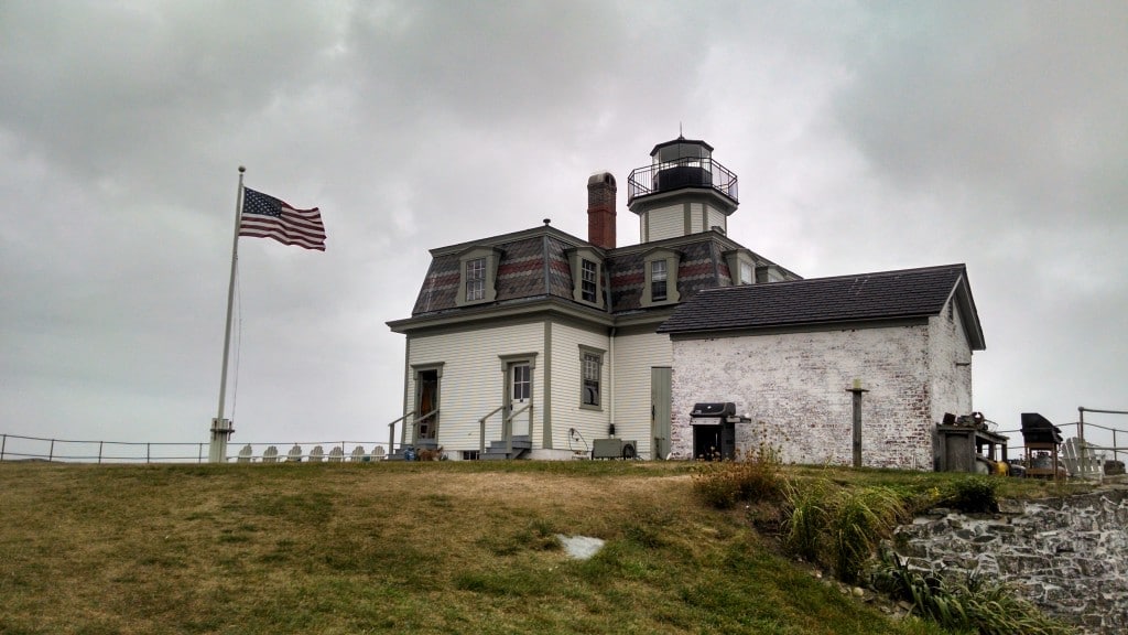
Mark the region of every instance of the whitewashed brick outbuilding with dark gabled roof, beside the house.
MULTIPOLYGON (((936 424, 970 412, 984 334, 963 264, 703 289, 659 329, 672 342, 671 453, 695 454, 699 402, 734 402, 738 452, 935 468, 936 424)), ((699 444, 698 444, 699 445, 699 444)))

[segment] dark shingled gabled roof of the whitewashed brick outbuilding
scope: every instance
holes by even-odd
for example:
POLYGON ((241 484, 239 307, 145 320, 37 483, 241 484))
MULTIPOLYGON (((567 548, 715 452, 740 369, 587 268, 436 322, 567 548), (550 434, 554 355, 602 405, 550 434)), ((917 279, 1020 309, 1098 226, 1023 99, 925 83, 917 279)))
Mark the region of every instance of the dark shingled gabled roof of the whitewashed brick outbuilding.
POLYGON ((972 350, 985 348, 963 264, 704 289, 679 306, 660 333, 793 329, 849 322, 925 319, 949 298, 972 350))

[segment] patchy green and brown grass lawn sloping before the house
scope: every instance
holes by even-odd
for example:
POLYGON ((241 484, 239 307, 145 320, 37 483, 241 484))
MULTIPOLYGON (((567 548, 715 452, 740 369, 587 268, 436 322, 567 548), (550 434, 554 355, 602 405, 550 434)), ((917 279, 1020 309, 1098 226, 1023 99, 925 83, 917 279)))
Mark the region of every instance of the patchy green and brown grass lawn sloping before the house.
POLYGON ((691 469, 0 463, 0 633, 944 633, 794 566, 691 469))

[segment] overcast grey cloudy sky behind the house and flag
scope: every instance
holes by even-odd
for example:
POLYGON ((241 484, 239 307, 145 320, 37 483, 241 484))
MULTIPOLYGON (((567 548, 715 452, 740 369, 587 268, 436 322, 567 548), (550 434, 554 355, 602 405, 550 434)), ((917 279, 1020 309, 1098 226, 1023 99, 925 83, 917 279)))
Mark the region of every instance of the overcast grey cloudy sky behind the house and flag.
POLYGON ((625 183, 679 127, 740 177, 729 234, 804 277, 967 263, 1001 428, 1128 410, 1126 25, 1121 1, 2 1, 0 433, 206 441, 245 165, 328 242, 240 242, 232 443, 386 440, 385 322, 428 250, 585 237, 588 176, 625 183))

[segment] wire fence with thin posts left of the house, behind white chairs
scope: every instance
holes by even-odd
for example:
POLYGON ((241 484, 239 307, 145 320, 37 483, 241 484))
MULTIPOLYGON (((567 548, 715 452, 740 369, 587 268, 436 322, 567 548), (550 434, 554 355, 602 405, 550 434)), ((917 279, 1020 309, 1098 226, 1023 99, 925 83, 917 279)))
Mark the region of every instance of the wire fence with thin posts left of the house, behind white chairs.
MULTIPOLYGON (((73 463, 205 463, 209 443, 74 441, 0 434, 0 461, 73 463)), ((247 443, 228 446, 227 462, 379 461, 388 443, 328 441, 311 443, 247 443)))

